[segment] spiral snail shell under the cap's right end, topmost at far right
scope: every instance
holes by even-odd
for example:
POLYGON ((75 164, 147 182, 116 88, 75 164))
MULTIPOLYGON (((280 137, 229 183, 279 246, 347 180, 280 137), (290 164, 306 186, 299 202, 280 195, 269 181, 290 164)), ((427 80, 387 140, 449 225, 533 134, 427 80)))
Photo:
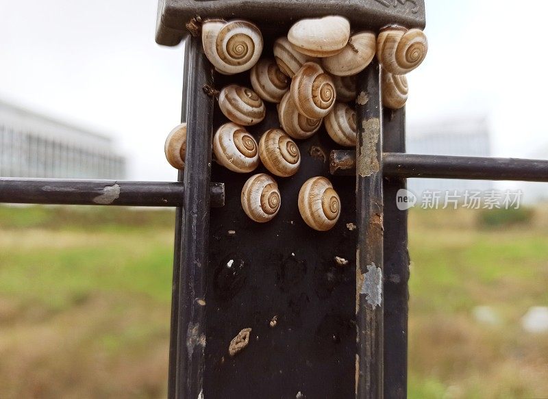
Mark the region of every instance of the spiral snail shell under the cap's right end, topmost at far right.
POLYGON ((421 29, 390 26, 377 38, 377 58, 384 69, 405 75, 419 66, 428 52, 428 40, 421 29))

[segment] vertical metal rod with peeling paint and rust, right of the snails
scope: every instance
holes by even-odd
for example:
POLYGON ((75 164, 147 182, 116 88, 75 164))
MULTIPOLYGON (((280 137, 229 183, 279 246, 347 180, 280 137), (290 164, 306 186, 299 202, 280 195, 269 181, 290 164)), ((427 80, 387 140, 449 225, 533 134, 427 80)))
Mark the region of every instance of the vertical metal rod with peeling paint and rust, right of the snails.
POLYGON ((356 398, 382 398, 383 218, 382 107, 377 60, 358 75, 356 121, 356 398))

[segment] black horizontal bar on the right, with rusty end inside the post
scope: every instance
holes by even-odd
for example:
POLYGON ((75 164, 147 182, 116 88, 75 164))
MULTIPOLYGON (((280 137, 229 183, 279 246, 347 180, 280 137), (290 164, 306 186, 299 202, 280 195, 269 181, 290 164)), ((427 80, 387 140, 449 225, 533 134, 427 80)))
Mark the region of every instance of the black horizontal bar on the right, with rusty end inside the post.
MULTIPOLYGON (((548 161, 539 159, 383 154, 385 177, 548 181, 548 161)), ((332 175, 356 174, 356 151, 332 151, 332 175)))

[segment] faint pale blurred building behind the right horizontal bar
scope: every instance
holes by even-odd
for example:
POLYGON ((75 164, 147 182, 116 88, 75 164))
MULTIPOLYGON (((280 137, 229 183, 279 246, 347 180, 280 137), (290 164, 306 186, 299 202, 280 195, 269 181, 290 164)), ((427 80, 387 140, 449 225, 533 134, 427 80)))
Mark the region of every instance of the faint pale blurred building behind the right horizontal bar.
MULTIPOLYGON (((438 120, 407 127, 407 152, 432 155, 490 156, 490 134, 486 118, 438 120)), ((493 190, 492 181, 410 179, 409 190, 421 198, 424 192, 460 193, 493 190)))

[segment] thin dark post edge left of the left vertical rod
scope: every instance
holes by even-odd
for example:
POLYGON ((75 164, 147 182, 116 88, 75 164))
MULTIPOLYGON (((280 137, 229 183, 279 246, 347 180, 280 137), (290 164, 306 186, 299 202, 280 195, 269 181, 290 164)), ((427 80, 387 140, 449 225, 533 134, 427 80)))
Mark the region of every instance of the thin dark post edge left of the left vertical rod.
MULTIPOLYGON (((190 59, 190 38, 184 40, 183 55, 183 90, 181 106, 181 123, 186 122, 188 103, 188 64, 190 59)), ((177 181, 184 180, 184 172, 179 170, 177 181)), ((175 240, 173 242, 173 283, 171 285, 171 326, 169 330, 169 370, 167 383, 168 398, 175 398, 175 380, 177 375, 177 333, 179 331, 179 275, 182 253, 182 207, 175 211, 175 240)))

